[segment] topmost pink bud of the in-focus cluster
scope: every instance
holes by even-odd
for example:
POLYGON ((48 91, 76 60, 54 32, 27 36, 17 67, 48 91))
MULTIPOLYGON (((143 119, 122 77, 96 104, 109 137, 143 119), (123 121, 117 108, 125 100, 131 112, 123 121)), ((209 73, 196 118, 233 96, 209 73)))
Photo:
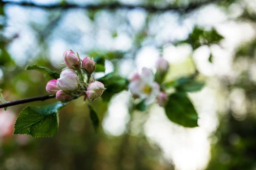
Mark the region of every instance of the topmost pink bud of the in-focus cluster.
POLYGON ((73 65, 78 65, 78 67, 80 67, 80 65, 81 65, 81 62, 80 62, 78 56, 70 50, 64 51, 63 60, 66 64, 66 66, 69 68, 72 68, 72 69, 76 69, 76 67, 73 65))

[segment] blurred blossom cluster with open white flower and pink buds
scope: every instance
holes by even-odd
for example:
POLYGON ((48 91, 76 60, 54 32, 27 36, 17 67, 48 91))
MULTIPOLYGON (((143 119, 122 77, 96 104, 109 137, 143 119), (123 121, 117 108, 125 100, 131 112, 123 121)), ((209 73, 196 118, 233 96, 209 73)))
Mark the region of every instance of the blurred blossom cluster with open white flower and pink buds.
MULTIPOLYGON (((169 63, 161 57, 156 62, 156 68, 158 73, 165 75, 169 69, 169 63)), ((145 99, 146 105, 152 104, 155 100, 159 106, 166 105, 167 94, 161 91, 160 85, 155 81, 154 74, 150 69, 143 68, 141 75, 136 73, 129 81, 129 89, 134 98, 145 99)))

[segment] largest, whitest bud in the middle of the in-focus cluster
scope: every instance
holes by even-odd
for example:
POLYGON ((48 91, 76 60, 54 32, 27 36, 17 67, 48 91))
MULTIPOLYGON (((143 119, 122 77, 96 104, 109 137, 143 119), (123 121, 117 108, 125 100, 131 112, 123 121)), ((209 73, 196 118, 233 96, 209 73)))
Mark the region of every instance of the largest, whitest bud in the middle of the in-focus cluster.
POLYGON ((79 78, 73 69, 66 69, 60 73, 60 78, 57 79, 57 87, 60 90, 72 91, 77 90, 80 86, 79 78))

